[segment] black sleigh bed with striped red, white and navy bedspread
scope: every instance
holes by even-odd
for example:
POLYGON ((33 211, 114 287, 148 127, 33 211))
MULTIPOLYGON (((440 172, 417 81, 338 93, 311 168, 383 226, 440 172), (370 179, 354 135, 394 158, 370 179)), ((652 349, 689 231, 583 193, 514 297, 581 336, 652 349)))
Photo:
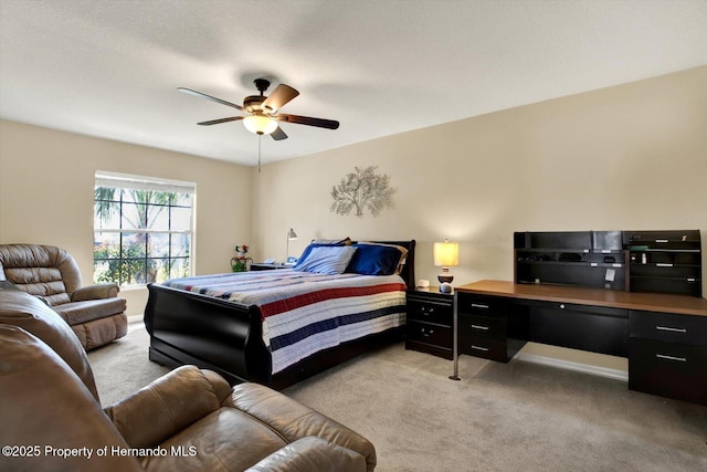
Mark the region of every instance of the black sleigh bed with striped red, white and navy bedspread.
POLYGON ((351 251, 328 249, 341 245, 348 244, 309 244, 297 270, 148 285, 150 360, 169 367, 193 364, 231 384, 257 381, 282 389, 402 339, 405 289, 414 286, 415 241, 354 243, 355 260, 344 273, 307 270, 316 251, 351 251), (356 258, 373 245, 404 248, 404 263, 394 274, 373 275, 368 269, 350 273, 356 258))

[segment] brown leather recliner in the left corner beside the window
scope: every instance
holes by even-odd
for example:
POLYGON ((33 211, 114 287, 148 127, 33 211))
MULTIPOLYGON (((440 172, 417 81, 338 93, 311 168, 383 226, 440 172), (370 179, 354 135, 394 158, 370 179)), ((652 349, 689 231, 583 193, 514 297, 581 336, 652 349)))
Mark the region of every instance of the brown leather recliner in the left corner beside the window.
POLYGON ((82 286, 74 258, 61 248, 0 244, 0 280, 38 296, 59 313, 86 350, 127 333, 126 302, 117 284, 82 286))

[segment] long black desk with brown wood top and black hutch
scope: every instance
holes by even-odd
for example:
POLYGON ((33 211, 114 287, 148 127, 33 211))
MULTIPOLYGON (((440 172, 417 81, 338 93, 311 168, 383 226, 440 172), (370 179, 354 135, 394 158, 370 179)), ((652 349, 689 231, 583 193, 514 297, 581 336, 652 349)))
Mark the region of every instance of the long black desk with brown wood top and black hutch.
POLYGON ((629 358, 629 388, 707 405, 707 300, 690 231, 515 233, 514 282, 456 287, 458 355, 507 363, 526 342, 629 358))

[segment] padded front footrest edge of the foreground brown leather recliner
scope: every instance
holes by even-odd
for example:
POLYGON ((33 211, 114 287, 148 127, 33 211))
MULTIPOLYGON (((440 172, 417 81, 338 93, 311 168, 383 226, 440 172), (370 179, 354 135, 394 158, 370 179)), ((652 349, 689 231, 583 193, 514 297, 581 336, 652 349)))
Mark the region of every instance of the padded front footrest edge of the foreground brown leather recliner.
POLYGON ((315 436, 358 452, 366 459, 368 471, 376 469, 376 448, 368 439, 271 388, 260 384, 239 384, 233 387, 230 401, 223 405, 257 418, 291 443, 315 436))

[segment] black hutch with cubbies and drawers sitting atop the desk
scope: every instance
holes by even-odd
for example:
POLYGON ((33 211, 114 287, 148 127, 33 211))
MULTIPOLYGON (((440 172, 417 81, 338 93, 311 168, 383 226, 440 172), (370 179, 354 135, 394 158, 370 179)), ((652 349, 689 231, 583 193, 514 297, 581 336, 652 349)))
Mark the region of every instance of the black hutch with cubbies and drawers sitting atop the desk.
POLYGON ((516 232, 515 282, 701 296, 699 230, 516 232))

